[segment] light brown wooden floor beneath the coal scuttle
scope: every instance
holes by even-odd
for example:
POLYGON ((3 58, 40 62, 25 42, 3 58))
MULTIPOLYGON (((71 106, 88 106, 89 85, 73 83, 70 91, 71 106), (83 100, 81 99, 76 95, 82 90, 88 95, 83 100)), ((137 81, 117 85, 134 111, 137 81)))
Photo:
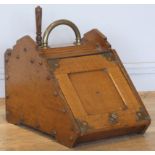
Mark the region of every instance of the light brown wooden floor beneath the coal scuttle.
POLYGON ((152 123, 144 135, 127 135, 67 148, 49 136, 5 120, 4 99, 0 99, 0 150, 155 150, 155 92, 142 92, 141 98, 152 123))

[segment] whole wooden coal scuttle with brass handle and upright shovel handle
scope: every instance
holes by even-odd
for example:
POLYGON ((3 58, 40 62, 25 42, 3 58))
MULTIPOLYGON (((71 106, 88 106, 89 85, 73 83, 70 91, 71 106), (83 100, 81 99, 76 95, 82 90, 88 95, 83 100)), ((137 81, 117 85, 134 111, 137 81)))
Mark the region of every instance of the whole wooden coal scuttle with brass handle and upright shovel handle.
POLYGON ((6 118, 75 144, 129 133, 144 133, 146 111, 117 52, 97 29, 81 38, 68 20, 53 22, 41 35, 42 9, 36 8, 36 42, 19 39, 5 52, 6 118), (50 32, 68 25, 72 46, 51 48, 50 32))

